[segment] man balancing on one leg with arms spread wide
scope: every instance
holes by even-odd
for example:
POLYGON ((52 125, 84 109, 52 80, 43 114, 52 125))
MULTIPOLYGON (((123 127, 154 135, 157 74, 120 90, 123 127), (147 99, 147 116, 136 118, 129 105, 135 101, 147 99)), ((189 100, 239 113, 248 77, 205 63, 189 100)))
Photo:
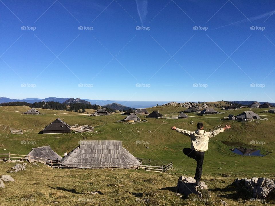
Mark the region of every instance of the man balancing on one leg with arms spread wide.
POLYGON ((226 129, 230 129, 231 125, 225 125, 224 128, 220 128, 211 132, 205 132, 203 130, 203 123, 198 122, 197 130, 195 132, 190 132, 188 130, 183 130, 172 126, 172 130, 176 130, 186 136, 191 138, 191 149, 184 148, 183 152, 190 158, 193 158, 197 161, 197 168, 194 179, 196 180, 196 186, 200 185, 201 182, 201 173, 203 171, 203 159, 204 153, 208 150, 208 140, 210 137, 215 136, 221 132, 224 132, 226 129))

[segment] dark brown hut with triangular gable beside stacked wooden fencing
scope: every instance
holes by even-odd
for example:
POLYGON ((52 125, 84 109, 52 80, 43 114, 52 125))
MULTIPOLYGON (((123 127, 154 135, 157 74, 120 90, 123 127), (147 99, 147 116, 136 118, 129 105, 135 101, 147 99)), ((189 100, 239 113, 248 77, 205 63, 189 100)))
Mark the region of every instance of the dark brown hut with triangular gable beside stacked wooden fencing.
POLYGON ((41 132, 42 134, 54 134, 54 133, 70 133, 71 126, 66 122, 57 118, 52 123, 47 125, 41 132))

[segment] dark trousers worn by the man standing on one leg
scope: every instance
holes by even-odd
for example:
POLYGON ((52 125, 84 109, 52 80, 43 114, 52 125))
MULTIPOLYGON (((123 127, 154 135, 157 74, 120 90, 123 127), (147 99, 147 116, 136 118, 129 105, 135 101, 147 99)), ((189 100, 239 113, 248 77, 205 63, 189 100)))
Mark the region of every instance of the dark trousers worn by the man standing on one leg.
POLYGON ((203 172, 204 152, 199 152, 196 150, 192 150, 190 148, 184 148, 182 151, 185 155, 197 161, 197 168, 194 179, 201 181, 201 173, 203 172))

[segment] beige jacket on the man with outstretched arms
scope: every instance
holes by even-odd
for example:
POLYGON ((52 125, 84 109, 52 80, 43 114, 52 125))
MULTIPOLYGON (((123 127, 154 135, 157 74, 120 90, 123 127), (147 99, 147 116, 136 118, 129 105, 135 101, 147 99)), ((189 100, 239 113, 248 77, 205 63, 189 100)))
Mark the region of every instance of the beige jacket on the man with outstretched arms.
POLYGON ((176 130, 177 132, 189 136, 191 138, 191 149, 200 152, 208 150, 208 140, 210 137, 213 137, 216 134, 224 132, 223 128, 211 132, 205 132, 204 130, 196 130, 195 132, 190 132, 188 130, 183 130, 179 128, 177 128, 176 130))

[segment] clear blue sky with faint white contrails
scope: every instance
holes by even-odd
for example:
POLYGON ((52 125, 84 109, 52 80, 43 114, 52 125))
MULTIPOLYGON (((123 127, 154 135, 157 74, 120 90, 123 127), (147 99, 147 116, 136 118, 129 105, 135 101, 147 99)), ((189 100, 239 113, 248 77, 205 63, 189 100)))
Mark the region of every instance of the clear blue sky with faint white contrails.
POLYGON ((275 102, 274 1, 1 0, 0 9, 0 96, 275 102))

